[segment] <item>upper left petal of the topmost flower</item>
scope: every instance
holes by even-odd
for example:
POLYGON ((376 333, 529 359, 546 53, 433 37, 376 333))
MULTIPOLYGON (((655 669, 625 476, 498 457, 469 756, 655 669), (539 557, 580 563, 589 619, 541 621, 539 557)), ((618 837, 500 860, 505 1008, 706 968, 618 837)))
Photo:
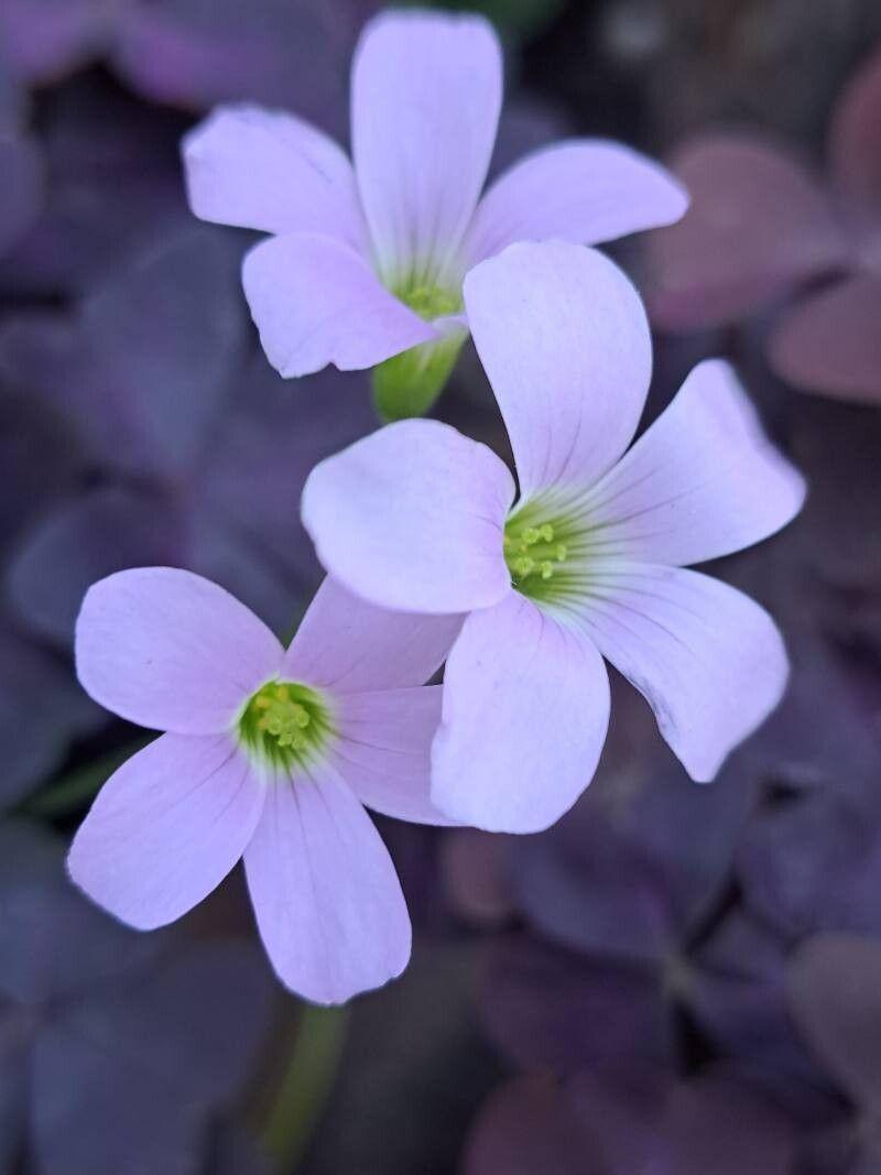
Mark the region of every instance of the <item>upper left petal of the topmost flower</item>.
POLYGON ((196 216, 263 233, 321 233, 364 241, 355 173, 345 153, 292 114, 222 106, 183 140, 196 216))

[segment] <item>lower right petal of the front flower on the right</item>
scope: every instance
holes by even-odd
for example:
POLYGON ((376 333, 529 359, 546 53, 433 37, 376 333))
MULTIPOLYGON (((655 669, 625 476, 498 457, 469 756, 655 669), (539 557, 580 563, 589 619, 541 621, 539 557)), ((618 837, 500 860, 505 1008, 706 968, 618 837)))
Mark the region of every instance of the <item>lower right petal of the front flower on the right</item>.
POLYGON ((580 619, 701 783, 767 718, 786 686, 786 650, 768 613, 697 571, 598 565, 580 619))

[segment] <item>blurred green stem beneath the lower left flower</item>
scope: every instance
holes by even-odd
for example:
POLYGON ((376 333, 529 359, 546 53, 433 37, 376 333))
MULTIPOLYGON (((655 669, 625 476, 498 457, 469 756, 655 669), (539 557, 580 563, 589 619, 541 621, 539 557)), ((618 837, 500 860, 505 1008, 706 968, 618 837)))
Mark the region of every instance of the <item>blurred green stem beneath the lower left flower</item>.
POLYGON ((263 1127, 263 1142, 281 1171, 295 1169, 321 1120, 339 1068, 348 1021, 348 1008, 303 1005, 290 1059, 263 1127))

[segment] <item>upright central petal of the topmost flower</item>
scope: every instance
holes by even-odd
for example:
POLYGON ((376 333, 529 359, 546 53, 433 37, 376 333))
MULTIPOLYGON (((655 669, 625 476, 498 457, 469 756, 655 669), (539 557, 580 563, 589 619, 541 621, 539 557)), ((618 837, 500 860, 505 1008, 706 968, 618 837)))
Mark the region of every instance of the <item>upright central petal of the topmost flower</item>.
POLYGON ((395 12, 366 26, 352 66, 352 152, 388 280, 455 267, 500 105, 502 53, 482 18, 395 12))

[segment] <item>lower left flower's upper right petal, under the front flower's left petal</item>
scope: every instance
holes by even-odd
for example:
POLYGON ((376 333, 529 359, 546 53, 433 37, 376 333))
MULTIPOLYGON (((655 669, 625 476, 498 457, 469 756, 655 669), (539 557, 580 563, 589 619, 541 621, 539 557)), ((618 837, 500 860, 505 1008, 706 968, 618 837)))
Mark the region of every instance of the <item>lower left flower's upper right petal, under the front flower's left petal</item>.
POLYGON ((283 677, 336 694, 423 685, 443 664, 460 616, 390 612, 328 576, 284 654, 283 677))

